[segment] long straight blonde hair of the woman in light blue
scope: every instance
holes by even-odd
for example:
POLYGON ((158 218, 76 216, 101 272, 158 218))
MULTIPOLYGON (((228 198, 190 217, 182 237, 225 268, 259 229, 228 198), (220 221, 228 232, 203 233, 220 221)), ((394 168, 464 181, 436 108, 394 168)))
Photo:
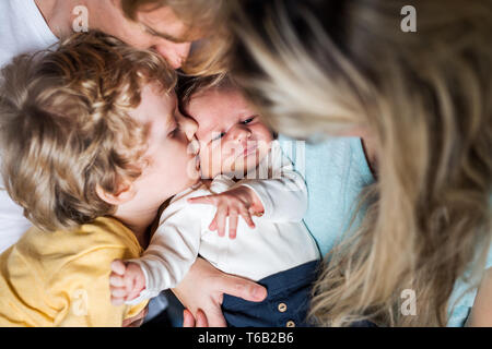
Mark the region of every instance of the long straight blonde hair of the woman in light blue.
MULTIPOLYGON (((279 131, 376 139, 377 182, 361 195, 360 227, 325 260, 312 315, 320 325, 368 318, 443 326, 470 265, 491 244, 492 2, 243 0, 232 73, 279 131), (400 311, 417 296, 417 315, 400 311)), ((327 197, 329 200, 329 197, 327 197)))

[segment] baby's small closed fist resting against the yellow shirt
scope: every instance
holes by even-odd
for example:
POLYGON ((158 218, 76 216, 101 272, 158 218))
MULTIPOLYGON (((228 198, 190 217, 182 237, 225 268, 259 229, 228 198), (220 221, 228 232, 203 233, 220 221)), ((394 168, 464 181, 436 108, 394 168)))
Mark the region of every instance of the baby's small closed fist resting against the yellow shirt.
POLYGON ((138 264, 113 261, 109 290, 114 305, 121 305, 136 299, 144 288, 145 276, 138 264))

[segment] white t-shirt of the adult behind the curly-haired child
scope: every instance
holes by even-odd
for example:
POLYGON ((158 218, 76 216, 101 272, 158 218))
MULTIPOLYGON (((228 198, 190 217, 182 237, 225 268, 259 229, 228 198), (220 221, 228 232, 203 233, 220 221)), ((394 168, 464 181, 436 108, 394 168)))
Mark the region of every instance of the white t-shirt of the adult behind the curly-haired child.
MULTIPOLYGON (((57 41, 34 0, 0 1, 0 68, 17 55, 46 49, 57 41)), ((31 222, 10 198, 0 177, 0 253, 30 227, 31 222)))

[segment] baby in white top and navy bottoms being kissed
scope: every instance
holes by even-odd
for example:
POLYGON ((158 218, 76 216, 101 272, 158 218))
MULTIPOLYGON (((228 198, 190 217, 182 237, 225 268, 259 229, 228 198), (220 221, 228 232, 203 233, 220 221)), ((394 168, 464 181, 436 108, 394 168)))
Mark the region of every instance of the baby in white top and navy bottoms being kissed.
POLYGON ((260 303, 224 296, 230 326, 307 325, 319 252, 301 222, 307 202, 302 177, 230 80, 196 83, 183 107, 198 122, 202 178, 212 181, 171 201, 140 258, 113 263, 114 299, 139 302, 175 287, 200 255, 268 290, 260 303), (221 238, 227 228, 232 239, 221 238))

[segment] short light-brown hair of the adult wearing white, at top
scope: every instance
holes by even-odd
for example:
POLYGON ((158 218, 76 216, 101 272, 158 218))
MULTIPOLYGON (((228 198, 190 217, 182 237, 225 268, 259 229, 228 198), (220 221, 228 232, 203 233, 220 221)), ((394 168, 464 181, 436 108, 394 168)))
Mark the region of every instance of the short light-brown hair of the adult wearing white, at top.
POLYGON ((199 34, 203 39, 195 43, 190 56, 181 69, 197 76, 222 75, 227 69, 231 34, 226 26, 229 0, 121 0, 125 15, 137 21, 139 11, 153 11, 161 7, 173 9, 177 17, 188 26, 190 36, 199 34))

